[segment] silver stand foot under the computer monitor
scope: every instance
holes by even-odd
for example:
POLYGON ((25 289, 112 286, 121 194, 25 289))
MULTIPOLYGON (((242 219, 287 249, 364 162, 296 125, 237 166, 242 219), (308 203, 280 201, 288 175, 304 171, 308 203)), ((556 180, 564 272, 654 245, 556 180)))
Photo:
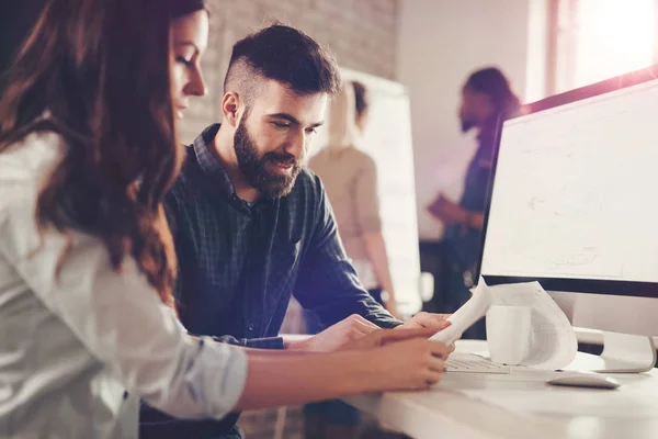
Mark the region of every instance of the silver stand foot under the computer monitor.
POLYGON ((592 360, 594 372, 648 372, 656 367, 656 346, 651 337, 603 331, 603 352, 592 360))

